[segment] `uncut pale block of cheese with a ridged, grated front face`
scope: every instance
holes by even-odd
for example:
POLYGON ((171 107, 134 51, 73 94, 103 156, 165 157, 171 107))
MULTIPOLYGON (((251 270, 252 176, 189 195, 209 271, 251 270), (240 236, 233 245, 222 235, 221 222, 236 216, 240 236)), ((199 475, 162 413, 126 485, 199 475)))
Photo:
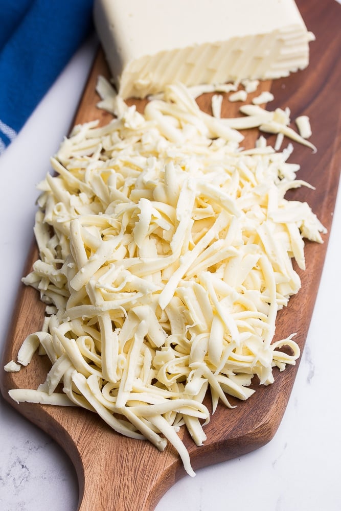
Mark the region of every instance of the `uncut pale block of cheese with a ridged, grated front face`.
POLYGON ((288 76, 314 39, 294 0, 95 0, 94 21, 123 98, 288 76))

